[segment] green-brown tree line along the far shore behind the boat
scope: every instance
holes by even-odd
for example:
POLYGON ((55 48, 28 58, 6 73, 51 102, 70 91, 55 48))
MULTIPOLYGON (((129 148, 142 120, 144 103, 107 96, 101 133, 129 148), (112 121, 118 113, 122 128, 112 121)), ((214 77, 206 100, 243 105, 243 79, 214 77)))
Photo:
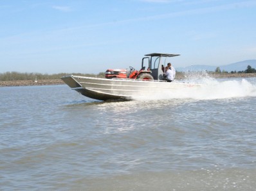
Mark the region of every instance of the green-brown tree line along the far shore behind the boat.
MULTIPOLYGON (((182 72, 178 72, 182 73, 182 72)), ((213 72, 209 72, 213 73, 213 72)), ((226 74, 228 72, 221 71, 219 67, 215 69, 215 73, 217 74, 226 74)), ((234 73, 256 73, 256 70, 248 65, 245 71, 232 71, 231 74, 234 73)), ((98 74, 82 74, 82 73, 71 73, 74 76, 88 76, 88 77, 97 77, 97 78, 105 78, 105 72, 100 72, 98 74)), ((41 73, 28 73, 28 72, 5 72, 0 73, 0 81, 17 81, 17 80, 35 80, 35 79, 60 79, 62 76, 70 75, 68 73, 59 73, 59 74, 41 74, 41 73)))

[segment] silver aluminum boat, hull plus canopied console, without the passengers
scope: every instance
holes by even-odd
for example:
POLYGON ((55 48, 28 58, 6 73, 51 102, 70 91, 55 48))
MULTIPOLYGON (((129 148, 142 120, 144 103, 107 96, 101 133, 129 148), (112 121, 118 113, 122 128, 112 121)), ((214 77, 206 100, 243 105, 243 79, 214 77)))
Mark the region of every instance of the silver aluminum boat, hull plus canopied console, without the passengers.
POLYGON ((185 90, 188 88, 200 87, 198 84, 167 82, 163 80, 162 65, 165 65, 166 63, 162 64, 163 62, 161 62, 161 58, 178 55, 179 54, 161 53, 146 54, 145 56, 151 57, 145 57, 142 59, 142 70, 138 71, 138 73, 143 74, 143 69, 145 70, 144 60, 147 58, 147 60, 149 60, 149 67, 145 73, 147 73, 147 75, 150 73, 154 79, 141 79, 139 77, 138 79, 129 78, 129 73, 134 73, 133 67, 130 67, 131 71, 127 72, 127 77, 125 78, 105 79, 70 75, 64 76, 61 79, 69 87, 80 94, 102 101, 132 100, 152 95, 158 96, 160 94, 170 94, 172 92, 182 93, 182 91, 185 93, 185 90))

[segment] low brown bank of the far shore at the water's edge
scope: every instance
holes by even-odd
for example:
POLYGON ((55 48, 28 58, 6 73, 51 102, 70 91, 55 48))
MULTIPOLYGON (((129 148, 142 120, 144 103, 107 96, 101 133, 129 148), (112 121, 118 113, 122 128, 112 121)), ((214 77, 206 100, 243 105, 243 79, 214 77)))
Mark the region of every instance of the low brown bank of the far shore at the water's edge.
MULTIPOLYGON (((251 78, 256 77, 256 73, 235 73, 235 74, 208 74, 210 78, 251 78)), ((176 76, 177 79, 184 79, 183 76, 176 76)), ((17 81, 0 81, 0 87, 24 87, 24 86, 41 86, 41 85, 63 85, 62 79, 39 79, 17 80, 17 81)))

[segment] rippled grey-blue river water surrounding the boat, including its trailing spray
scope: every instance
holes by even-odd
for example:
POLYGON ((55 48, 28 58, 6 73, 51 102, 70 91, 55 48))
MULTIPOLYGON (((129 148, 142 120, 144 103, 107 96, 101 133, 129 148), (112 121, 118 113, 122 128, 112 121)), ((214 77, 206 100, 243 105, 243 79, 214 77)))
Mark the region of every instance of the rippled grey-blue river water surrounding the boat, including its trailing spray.
POLYGON ((0 190, 256 190, 256 78, 103 102, 0 88, 0 190))

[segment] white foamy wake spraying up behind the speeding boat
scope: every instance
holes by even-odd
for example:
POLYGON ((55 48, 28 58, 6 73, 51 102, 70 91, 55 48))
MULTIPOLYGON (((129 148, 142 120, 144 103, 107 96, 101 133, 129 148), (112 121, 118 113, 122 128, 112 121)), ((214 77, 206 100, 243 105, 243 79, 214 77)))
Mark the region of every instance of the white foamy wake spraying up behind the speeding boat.
MULTIPOLYGON (((251 78, 250 78, 251 79, 251 78)), ((230 99, 235 97, 255 97, 256 96, 256 79, 214 79, 204 76, 203 78, 188 79, 185 83, 199 83, 200 88, 181 89, 175 92, 165 94, 156 93, 149 95, 143 100, 156 99, 230 99)))

